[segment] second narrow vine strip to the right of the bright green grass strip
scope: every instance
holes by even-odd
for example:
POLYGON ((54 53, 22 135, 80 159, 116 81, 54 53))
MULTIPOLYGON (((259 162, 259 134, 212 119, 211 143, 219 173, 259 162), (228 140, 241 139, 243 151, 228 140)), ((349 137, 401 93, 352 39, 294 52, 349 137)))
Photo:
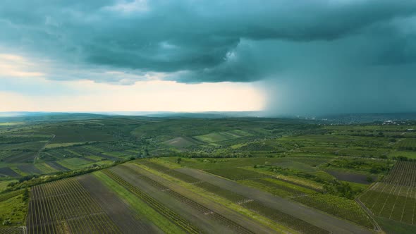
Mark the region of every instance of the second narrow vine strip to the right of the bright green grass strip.
POLYGON ((208 209, 207 207, 204 207, 202 204, 199 204, 199 203, 195 202, 194 200, 189 199, 188 197, 185 197, 185 196, 179 194, 178 192, 170 190, 169 187, 161 185, 161 183, 157 182, 156 180, 153 180, 152 178, 149 178, 149 177, 143 175, 139 171, 134 170, 133 168, 130 168, 128 166, 123 166, 123 168, 125 168, 130 173, 135 173, 135 174, 139 175, 140 180, 144 180, 149 185, 157 187, 159 190, 165 191, 171 197, 174 197, 178 201, 181 201, 182 203, 187 204, 188 206, 190 206, 194 209, 197 209, 202 214, 209 214, 209 218, 212 218, 215 221, 218 221, 219 223, 223 224, 224 226, 227 226, 228 228, 231 228, 231 229, 235 230, 237 233, 252 233, 250 230, 247 230, 243 226, 240 226, 238 223, 235 223, 231 219, 228 219, 228 218, 222 216, 221 214, 218 214, 218 213, 208 209))

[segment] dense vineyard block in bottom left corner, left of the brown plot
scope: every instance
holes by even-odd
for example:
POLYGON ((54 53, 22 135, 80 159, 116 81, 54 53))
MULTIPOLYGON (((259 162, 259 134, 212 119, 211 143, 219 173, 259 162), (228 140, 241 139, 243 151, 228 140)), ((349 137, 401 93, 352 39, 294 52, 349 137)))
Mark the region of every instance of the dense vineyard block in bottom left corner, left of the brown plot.
POLYGON ((28 233, 119 233, 90 194, 71 178, 32 187, 28 233))

